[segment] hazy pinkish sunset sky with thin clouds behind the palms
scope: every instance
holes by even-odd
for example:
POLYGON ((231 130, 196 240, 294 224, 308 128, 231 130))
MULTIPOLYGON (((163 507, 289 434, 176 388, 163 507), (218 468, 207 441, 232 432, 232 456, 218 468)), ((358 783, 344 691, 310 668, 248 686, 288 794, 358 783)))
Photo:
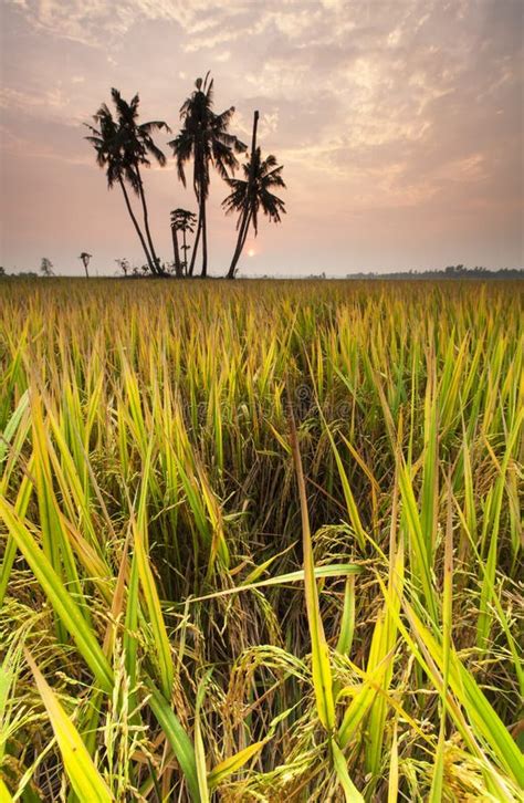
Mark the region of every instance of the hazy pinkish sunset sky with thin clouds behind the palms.
MULTIPOLYGON (((111 87, 172 128, 145 175, 157 251, 196 210, 167 147, 195 80, 214 79, 231 131, 284 165, 282 225, 250 236, 247 274, 520 268, 522 0, 0 0, 0 264, 82 274, 140 264, 118 188, 85 142, 111 87)), ((235 241, 211 178, 210 273, 235 241)))

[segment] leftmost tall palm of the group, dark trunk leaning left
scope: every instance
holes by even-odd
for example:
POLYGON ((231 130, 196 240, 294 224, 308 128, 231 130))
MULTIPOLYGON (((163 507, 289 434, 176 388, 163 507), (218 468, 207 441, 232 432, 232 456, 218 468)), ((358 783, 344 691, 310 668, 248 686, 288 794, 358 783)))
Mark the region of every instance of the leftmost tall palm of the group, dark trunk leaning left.
POLYGON ((135 192, 138 192, 136 175, 125 158, 123 136, 119 131, 119 126, 105 103, 103 103, 98 108, 96 114, 93 116, 93 119, 97 127, 86 124, 86 127, 91 131, 91 136, 85 138, 95 149, 98 166, 105 168, 108 189, 113 189, 115 184, 119 185, 124 195, 127 211, 133 221, 138 239, 140 240, 144 253, 146 254, 149 270, 151 273, 158 273, 158 267, 153 261, 153 257, 149 253, 146 240, 142 233, 135 212, 133 211, 133 206, 126 189, 125 181, 132 186, 132 189, 135 192))

